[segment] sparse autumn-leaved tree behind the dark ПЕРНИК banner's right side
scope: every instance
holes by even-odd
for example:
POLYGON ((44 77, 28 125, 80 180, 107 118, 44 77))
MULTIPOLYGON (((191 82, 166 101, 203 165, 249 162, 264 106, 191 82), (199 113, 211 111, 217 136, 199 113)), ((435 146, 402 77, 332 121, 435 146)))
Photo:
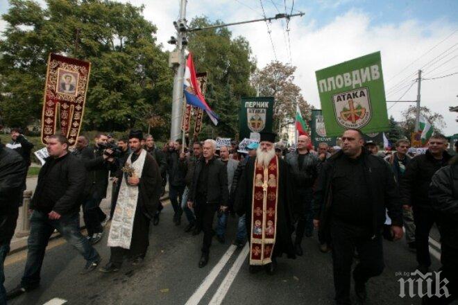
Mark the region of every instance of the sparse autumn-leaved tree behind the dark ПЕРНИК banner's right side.
POLYGON ((273 128, 282 130, 294 123, 296 105, 305 121, 310 120, 312 107, 304 100, 300 93, 300 87, 294 84, 294 72, 296 67, 282 62, 272 61, 261 70, 257 70, 253 76, 252 84, 259 90, 260 96, 273 96, 273 128))

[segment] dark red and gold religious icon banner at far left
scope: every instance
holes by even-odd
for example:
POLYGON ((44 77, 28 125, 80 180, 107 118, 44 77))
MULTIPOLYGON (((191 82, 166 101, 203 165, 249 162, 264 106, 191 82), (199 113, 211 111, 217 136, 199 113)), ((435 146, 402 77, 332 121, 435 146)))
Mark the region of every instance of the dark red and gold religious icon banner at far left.
POLYGON ((42 113, 42 143, 60 130, 73 146, 80 132, 90 62, 49 54, 42 113))

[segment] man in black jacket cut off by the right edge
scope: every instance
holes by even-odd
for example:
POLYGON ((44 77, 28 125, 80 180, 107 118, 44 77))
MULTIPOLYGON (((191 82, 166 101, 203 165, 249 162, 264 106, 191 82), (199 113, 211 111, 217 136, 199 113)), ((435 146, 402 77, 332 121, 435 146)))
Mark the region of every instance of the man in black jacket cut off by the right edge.
POLYGON ((424 304, 450 304, 458 298, 458 156, 449 164, 432 176, 429 195, 441 232, 441 283, 449 281, 450 296, 425 296, 424 304))

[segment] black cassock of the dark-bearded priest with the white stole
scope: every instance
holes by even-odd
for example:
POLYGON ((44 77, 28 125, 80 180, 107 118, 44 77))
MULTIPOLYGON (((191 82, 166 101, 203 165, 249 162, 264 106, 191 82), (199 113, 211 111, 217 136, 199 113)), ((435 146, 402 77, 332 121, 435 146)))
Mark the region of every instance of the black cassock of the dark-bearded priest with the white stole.
MULTIPOLYGON (((146 150, 142 152, 146 153, 146 150)), ((137 159, 141 159, 138 155, 132 155, 130 162, 134 163, 137 159)), ((128 161, 129 156, 126 156, 123 166, 128 161)), ((118 183, 121 185, 122 180, 126 180, 126 173, 119 170, 117 172, 118 183)), ((112 263, 122 263, 124 256, 144 257, 149 246, 149 223, 153 218, 155 211, 158 209, 160 194, 162 192, 162 179, 160 176, 159 166, 155 159, 149 154, 144 155, 144 164, 142 175, 138 188, 137 207, 135 209, 135 217, 133 219, 133 229, 130 239, 130 248, 111 247, 110 261, 112 263)), ((119 198, 118 198, 119 200, 119 198)), ((117 217, 117 211, 114 211, 112 225, 117 217)), ((113 228, 111 228, 113 229, 113 228)), ((110 235, 112 232, 110 232, 110 235)), ((108 238, 110 243, 110 237, 108 238)))

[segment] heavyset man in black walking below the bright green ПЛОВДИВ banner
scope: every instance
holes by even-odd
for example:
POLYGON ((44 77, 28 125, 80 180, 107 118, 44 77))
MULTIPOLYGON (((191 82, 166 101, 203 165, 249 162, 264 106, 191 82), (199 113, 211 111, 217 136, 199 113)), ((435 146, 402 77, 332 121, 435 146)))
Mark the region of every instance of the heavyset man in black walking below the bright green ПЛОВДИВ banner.
POLYGON ((366 282, 384 269, 382 228, 385 210, 394 239, 402 237, 398 187, 387 162, 364 148, 361 131, 346 130, 342 150, 323 164, 314 197, 314 225, 332 238, 332 263, 337 304, 350 304, 350 270, 355 292, 366 299, 366 282))

